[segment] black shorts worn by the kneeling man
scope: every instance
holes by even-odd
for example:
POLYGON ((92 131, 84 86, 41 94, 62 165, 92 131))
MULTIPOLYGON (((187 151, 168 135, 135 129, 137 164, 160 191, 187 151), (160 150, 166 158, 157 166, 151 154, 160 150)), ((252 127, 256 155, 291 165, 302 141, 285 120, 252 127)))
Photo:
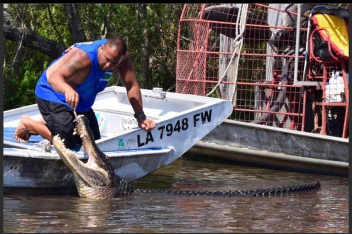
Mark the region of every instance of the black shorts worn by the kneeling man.
MULTIPOLYGON (((38 108, 40 114, 46 122, 46 126, 51 132, 51 136, 59 134, 62 139, 65 139, 64 143, 67 148, 73 148, 76 144, 81 145, 82 140, 78 135, 73 135, 75 128, 75 114, 71 109, 63 104, 59 104, 52 101, 43 100, 36 96, 38 108)), ((83 114, 88 118, 90 130, 94 135, 94 140, 100 139, 100 131, 98 121, 96 120, 95 113, 92 108, 83 114)))

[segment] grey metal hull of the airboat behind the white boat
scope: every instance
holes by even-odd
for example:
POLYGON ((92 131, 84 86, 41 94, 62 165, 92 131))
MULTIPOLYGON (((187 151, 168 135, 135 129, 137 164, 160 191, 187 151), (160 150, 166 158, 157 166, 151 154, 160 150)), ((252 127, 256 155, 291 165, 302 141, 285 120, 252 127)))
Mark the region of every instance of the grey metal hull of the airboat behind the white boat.
POLYGON ((225 120, 189 151, 249 165, 348 176, 348 139, 225 120))

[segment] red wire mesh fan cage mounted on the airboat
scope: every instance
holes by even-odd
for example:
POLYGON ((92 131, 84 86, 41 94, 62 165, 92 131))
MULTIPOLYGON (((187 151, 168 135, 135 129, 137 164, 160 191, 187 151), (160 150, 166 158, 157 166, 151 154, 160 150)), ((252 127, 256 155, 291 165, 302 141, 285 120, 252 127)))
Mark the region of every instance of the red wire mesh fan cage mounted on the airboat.
MULTIPOLYGON (((316 26, 309 15, 315 7, 185 4, 177 37, 176 92, 230 100, 234 120, 318 132, 328 125, 321 114, 327 106, 320 105, 325 100, 322 90, 326 87, 322 83, 328 76, 318 73, 334 70, 344 76, 348 64, 342 68, 340 62, 333 60, 329 64, 328 60, 319 60, 318 55, 314 57, 314 51, 310 53, 317 44, 313 38, 314 45, 309 48, 311 34, 317 33, 313 32, 316 26)), ((332 86, 328 88, 331 91, 332 86)), ((347 85, 342 89, 348 93, 347 85)), ((348 98, 341 102, 347 109, 348 98)))

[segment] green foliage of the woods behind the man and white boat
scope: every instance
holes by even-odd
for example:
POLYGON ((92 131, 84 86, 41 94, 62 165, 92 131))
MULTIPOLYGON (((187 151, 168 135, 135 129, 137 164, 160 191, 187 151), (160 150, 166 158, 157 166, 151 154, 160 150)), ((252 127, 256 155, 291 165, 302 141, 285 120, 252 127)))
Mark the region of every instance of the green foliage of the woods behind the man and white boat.
MULTIPOLYGON (((8 4, 13 19, 39 35, 68 47, 73 44, 64 4, 8 4), (49 10, 53 22, 49 18, 49 10)), ((143 32, 149 32, 149 83, 142 88, 168 89, 176 82, 176 39, 182 4, 147 4, 147 16, 140 18, 138 4, 78 4, 80 21, 88 41, 120 36, 138 76, 143 32)), ((35 103, 34 89, 46 66, 55 58, 21 46, 19 68, 13 66, 18 42, 5 40, 4 109, 35 103)), ((138 76, 139 77, 139 76, 138 76)), ((143 80, 139 80, 144 84, 143 80)), ((114 74, 108 85, 123 85, 114 74)))

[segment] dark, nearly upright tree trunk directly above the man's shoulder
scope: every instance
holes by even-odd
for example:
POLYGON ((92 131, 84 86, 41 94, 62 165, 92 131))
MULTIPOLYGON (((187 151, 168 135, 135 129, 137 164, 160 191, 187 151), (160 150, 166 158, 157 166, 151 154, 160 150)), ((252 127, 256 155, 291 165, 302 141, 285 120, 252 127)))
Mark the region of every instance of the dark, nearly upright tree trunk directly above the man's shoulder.
POLYGON ((87 37, 84 34, 84 31, 80 22, 77 4, 65 3, 65 10, 66 10, 66 18, 68 21, 68 27, 73 36, 74 43, 87 41, 87 37))

